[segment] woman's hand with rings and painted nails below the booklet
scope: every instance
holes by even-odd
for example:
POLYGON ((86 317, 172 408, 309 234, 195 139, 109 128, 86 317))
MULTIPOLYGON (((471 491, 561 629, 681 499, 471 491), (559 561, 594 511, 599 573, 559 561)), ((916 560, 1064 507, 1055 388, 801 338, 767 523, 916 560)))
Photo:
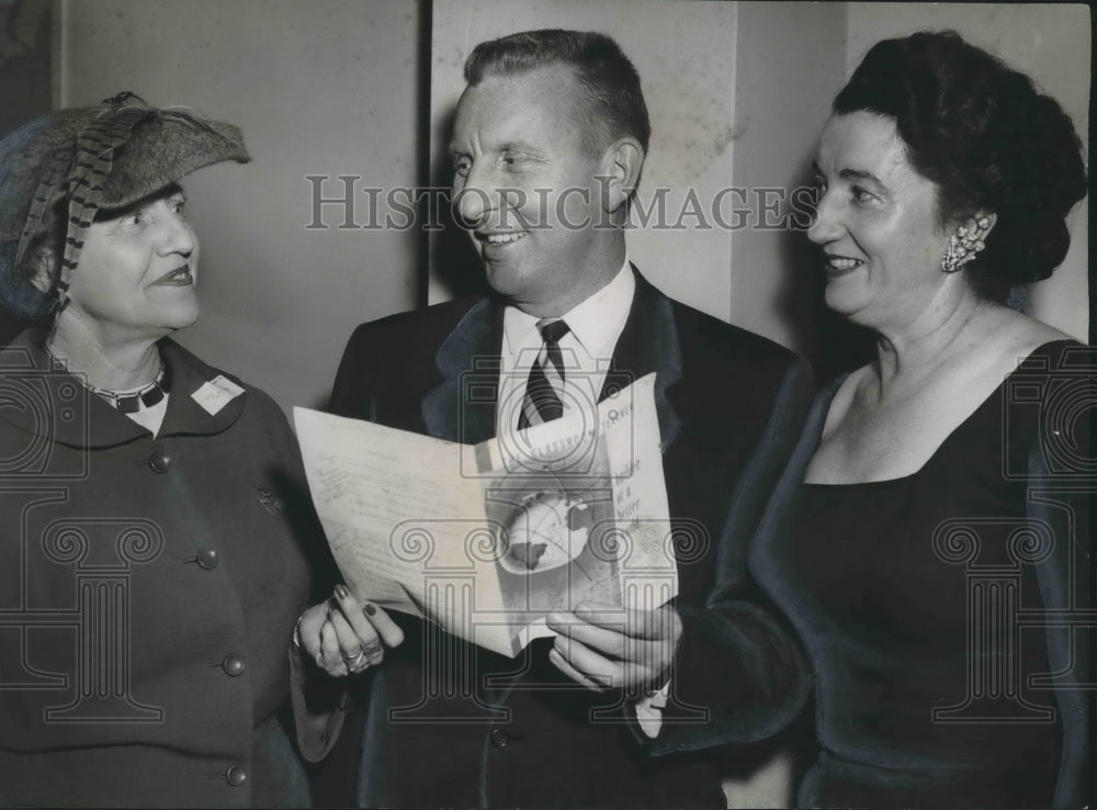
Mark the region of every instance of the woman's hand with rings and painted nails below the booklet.
POLYGON ((404 631, 373 603, 360 603, 346 585, 297 620, 294 641, 329 675, 354 675, 376 666, 386 646, 399 646, 404 631))

